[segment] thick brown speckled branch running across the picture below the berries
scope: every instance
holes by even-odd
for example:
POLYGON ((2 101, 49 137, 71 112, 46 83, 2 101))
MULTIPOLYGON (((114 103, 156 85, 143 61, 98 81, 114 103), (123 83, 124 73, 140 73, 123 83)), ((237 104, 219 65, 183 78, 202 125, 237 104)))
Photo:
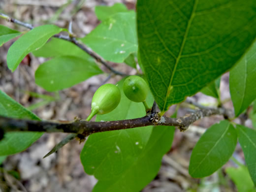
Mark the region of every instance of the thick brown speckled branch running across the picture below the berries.
POLYGON ((180 128, 181 131, 184 131, 187 130, 193 122, 203 117, 211 115, 230 116, 230 114, 231 112, 224 108, 208 108, 197 110, 194 113, 181 118, 169 118, 166 116, 159 117, 158 113, 153 113, 137 119, 107 122, 78 121, 65 124, 47 121, 12 119, 0 116, 0 130, 4 133, 10 131, 67 132, 88 136, 96 132, 161 125, 176 126, 180 128))

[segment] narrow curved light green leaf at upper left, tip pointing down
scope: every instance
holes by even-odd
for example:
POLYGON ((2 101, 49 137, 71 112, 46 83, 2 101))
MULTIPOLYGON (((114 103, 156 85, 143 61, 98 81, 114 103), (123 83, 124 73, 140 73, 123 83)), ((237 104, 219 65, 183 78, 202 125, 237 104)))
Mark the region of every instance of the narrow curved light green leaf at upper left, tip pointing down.
POLYGON ((39 49, 51 36, 61 31, 63 29, 55 25, 43 25, 22 35, 8 50, 8 68, 14 71, 28 53, 39 49))

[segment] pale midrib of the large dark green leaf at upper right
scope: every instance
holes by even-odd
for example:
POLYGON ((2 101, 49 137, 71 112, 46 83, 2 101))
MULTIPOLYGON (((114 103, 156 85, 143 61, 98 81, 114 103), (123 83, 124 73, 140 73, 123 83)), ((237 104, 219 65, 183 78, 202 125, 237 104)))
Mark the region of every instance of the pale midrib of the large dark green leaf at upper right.
MULTIPOLYGON (((185 32, 183 40, 182 40, 182 44, 181 44, 181 48, 180 48, 180 51, 179 51, 179 55, 178 55, 178 57, 176 59, 176 62, 175 62, 175 65, 174 65, 174 68, 173 68, 173 71, 172 71, 172 74, 171 74, 171 80, 170 80, 170 83, 169 83, 169 86, 168 86, 167 90, 170 90, 170 88, 171 88, 171 84, 172 84, 172 81, 173 81, 173 76, 175 74, 177 65, 178 65, 178 63, 180 61, 180 58, 181 58, 181 54, 182 54, 182 51, 183 51, 183 48, 184 48, 184 45, 185 45, 185 42, 186 42, 186 39, 187 39, 187 36, 188 36, 188 33, 189 33, 189 29, 190 29, 192 20, 193 20, 194 15, 195 15, 194 13, 195 13, 195 9, 196 9, 197 3, 198 3, 198 0, 195 0, 194 1, 194 5, 193 5, 193 9, 192 9, 192 13, 191 13, 191 16, 190 16, 190 19, 188 21, 188 25, 187 25, 187 28, 186 28, 186 32, 185 32)), ((165 100, 164 100, 163 108, 162 108, 163 111, 165 110, 165 106, 166 106, 167 98, 168 98, 169 94, 170 94, 169 91, 167 91, 166 95, 165 95, 165 100)))

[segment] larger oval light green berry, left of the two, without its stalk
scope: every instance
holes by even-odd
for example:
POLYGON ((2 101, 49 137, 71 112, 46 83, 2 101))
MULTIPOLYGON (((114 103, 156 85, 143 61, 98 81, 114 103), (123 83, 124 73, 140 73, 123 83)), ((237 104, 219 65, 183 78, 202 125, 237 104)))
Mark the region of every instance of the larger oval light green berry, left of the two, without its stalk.
POLYGON ((100 86, 92 99, 92 112, 106 114, 113 111, 119 104, 121 93, 117 86, 105 84, 100 86))

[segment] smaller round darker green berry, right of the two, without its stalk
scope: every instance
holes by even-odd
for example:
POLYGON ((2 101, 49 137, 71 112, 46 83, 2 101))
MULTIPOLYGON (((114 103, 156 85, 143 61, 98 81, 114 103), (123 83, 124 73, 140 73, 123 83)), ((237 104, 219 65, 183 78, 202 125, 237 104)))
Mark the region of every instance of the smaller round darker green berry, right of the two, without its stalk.
POLYGON ((144 79, 139 76, 129 76, 123 85, 124 93, 134 102, 145 102, 149 88, 144 79))

